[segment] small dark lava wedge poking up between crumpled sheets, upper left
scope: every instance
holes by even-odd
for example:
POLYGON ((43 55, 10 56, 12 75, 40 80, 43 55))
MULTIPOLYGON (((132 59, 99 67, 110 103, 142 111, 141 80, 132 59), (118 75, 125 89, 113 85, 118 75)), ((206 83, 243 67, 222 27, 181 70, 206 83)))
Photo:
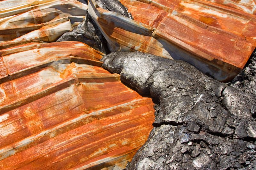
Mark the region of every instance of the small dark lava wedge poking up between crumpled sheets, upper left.
POLYGON ((92 24, 92 19, 87 14, 83 22, 72 31, 61 35, 56 42, 60 41, 80 41, 102 53, 109 53, 105 38, 98 27, 92 24))

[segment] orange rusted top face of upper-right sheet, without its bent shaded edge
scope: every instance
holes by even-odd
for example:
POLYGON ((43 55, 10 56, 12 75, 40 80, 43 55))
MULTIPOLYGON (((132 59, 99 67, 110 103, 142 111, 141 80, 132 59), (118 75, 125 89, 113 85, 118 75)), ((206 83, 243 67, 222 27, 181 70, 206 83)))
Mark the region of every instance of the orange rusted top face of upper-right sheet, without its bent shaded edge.
MULTIPOLYGON (((256 21, 256 17, 234 9, 232 11, 229 8, 225 9, 223 4, 222 11, 215 11, 217 8, 205 1, 196 1, 196 4, 193 3, 194 1, 182 1, 170 7, 165 3, 167 1, 160 0, 155 0, 153 2, 156 3, 150 4, 146 4, 148 2, 146 0, 121 0, 120 2, 128 5, 129 11, 134 15, 134 20, 150 24, 158 31, 165 33, 167 38, 175 37, 188 46, 239 68, 244 67, 252 53, 252 48, 256 47, 256 40, 249 37, 245 40, 241 36, 246 32, 245 29, 250 28, 248 25, 256 21), (143 8, 140 9, 140 6, 143 8), (165 14, 167 11, 170 12, 168 16, 165 14), (229 14, 231 12, 232 15, 229 14), (148 17, 152 13, 157 17, 148 17), (206 25, 202 27, 196 20, 206 25), (232 40, 239 41, 246 46, 239 46, 232 40)), ((168 2, 171 3, 171 1, 168 2)), ((221 5, 217 6, 220 8, 221 5)), ((255 29, 251 37, 256 37, 255 29)), ((116 38, 119 39, 118 36, 116 38)))

